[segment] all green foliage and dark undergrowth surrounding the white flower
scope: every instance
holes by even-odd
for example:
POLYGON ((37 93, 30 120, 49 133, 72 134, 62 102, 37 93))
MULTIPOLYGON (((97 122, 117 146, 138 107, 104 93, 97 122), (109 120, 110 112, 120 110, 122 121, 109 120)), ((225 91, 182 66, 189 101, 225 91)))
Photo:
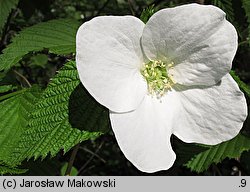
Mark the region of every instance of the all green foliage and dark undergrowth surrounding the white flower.
MULTIPOLYGON (((0 0, 0 174, 64 175, 67 152, 81 143, 71 175, 142 175, 121 154, 108 110, 80 83, 74 61, 76 31, 80 23, 99 15, 133 14, 146 23, 157 10, 187 2, 0 0)), ((249 100, 250 2, 205 3, 223 9, 239 33, 230 74, 249 100)), ((249 124, 246 121, 243 129, 249 130, 249 124)), ((156 174, 213 175, 211 165, 231 174, 228 164, 250 173, 249 162, 238 165, 242 153, 243 159, 250 154, 250 138, 243 133, 215 146, 173 138, 177 161, 156 174)))

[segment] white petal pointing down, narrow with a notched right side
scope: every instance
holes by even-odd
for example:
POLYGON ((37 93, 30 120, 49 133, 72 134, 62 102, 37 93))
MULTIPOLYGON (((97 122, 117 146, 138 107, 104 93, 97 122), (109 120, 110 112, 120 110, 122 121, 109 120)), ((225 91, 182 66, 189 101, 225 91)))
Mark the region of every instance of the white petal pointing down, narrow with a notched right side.
POLYGON ((173 119, 179 109, 175 96, 175 92, 169 92, 160 101, 147 95, 135 111, 110 113, 122 152, 143 172, 169 169, 175 161, 170 144, 173 119))

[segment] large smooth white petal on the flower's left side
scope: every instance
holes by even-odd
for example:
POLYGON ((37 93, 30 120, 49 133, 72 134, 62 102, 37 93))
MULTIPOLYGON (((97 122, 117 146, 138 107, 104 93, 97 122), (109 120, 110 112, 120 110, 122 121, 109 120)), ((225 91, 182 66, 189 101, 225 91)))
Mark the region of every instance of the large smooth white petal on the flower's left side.
POLYGON ((102 16, 84 23, 76 36, 80 80, 102 105, 115 112, 134 110, 147 85, 140 74, 144 24, 132 16, 102 16))

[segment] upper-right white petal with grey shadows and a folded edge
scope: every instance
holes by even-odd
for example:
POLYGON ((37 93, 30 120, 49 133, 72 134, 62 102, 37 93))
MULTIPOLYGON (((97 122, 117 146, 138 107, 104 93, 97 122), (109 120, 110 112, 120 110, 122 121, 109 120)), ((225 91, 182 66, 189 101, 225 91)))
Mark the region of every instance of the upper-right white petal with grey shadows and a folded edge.
POLYGON ((237 50, 237 32, 211 5, 163 9, 145 26, 142 46, 150 59, 171 60, 170 73, 184 85, 214 85, 227 74, 237 50))

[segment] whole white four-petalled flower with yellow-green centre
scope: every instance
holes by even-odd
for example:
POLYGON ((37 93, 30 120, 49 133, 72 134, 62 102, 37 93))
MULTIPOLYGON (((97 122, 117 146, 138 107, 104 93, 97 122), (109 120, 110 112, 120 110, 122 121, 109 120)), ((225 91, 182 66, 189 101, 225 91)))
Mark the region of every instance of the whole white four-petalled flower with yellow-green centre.
POLYGON ((110 110, 124 155, 138 169, 169 169, 171 134, 218 144, 236 136, 247 105, 229 75, 235 28, 214 6, 188 4, 155 13, 101 16, 77 32, 77 69, 89 93, 110 110))

